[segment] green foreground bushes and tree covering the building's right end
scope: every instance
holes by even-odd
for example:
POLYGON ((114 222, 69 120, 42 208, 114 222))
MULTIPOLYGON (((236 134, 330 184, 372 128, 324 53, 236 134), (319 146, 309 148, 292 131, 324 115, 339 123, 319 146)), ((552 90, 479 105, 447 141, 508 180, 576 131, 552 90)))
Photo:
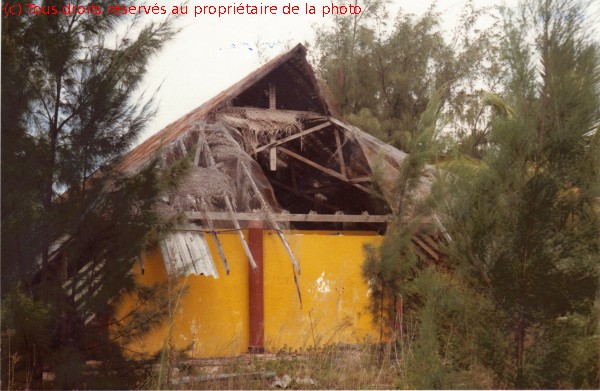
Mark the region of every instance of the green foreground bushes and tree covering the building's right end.
MULTIPOLYGON (((372 310, 409 388, 600 384, 600 47, 581 15, 563 0, 504 11, 508 78, 483 100, 489 145, 474 159, 459 140, 437 165, 432 212, 399 213, 367 251, 372 310), (432 213, 448 234, 441 265, 410 241, 432 213)), ((424 166, 403 170, 410 187, 424 166)))

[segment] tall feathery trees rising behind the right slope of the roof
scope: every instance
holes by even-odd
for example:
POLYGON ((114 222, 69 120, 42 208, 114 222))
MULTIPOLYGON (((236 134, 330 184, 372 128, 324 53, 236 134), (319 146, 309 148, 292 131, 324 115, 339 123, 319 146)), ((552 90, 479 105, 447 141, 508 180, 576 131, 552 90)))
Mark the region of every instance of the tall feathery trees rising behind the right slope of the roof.
POLYGON ((400 11, 391 21, 384 1, 366 0, 363 9, 317 31, 318 69, 341 114, 407 150, 435 98, 439 122, 459 136, 465 153, 479 157, 489 135, 481 98, 497 92, 505 75, 498 23, 482 22, 491 10, 466 1, 448 34, 435 3, 422 15, 400 11))

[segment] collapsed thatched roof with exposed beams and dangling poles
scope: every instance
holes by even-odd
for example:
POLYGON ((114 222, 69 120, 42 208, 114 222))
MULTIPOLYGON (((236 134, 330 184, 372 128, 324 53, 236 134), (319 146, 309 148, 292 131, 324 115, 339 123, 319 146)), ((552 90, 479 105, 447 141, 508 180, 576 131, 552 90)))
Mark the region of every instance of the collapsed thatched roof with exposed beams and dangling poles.
MULTIPOLYGON (((194 157, 192 172, 158 211, 186 212, 213 233, 240 232, 258 216, 279 233, 298 269, 280 224, 385 229, 406 154, 337 118, 298 45, 140 144, 122 169, 137 172, 156 157, 168 166, 185 156, 194 157), (383 195, 373 190, 376 167, 383 195)), ((241 233, 240 240, 246 249, 241 233)))

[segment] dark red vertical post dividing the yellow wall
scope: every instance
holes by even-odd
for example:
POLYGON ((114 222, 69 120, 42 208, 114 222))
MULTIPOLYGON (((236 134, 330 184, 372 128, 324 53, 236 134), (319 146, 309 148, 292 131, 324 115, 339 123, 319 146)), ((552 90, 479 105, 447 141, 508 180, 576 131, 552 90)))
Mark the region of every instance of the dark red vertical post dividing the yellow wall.
POLYGON ((249 341, 250 353, 265 351, 265 304, 264 304, 264 264, 263 264, 263 223, 251 221, 248 227, 248 246, 258 267, 248 268, 249 288, 249 341))

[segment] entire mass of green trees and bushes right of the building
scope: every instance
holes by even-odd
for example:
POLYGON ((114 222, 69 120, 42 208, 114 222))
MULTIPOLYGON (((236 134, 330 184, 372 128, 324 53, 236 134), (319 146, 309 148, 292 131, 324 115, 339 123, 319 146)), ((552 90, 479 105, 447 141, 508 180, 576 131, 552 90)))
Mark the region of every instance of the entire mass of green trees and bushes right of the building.
POLYGON ((600 42, 585 6, 501 9, 475 41, 470 10, 448 42, 433 10, 382 31, 372 2, 318 41, 346 118, 411 153, 363 266, 405 387, 600 385, 600 42), (424 227, 443 233, 443 262, 416 254, 424 227))

